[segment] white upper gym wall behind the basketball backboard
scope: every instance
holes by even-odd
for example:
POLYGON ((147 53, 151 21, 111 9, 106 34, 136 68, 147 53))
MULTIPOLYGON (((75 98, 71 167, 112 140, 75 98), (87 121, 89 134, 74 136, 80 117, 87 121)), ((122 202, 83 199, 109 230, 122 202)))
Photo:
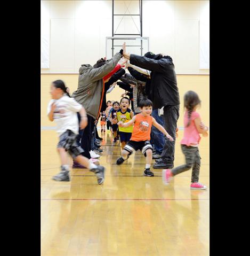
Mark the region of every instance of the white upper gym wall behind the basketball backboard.
MULTIPOLYGON (((138 1, 115 2, 115 13, 123 14, 127 6, 130 13, 139 13, 138 1)), ((41 10, 41 57, 43 67, 49 67, 41 73, 78 73, 81 64, 93 65, 105 56, 112 1, 41 1, 41 10)), ((170 55, 177 74, 209 74, 209 1, 143 0, 142 11, 150 51, 170 55)), ((124 31, 133 25, 130 17, 125 19, 124 31)))

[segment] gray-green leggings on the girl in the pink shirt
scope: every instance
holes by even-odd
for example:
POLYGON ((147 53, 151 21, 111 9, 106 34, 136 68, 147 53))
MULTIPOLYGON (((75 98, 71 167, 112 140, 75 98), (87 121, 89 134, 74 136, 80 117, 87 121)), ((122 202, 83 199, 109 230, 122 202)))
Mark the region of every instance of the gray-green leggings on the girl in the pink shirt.
POLYGON ((192 168, 192 178, 191 182, 199 181, 199 173, 200 173, 200 154, 199 149, 196 146, 186 146, 181 145, 181 150, 186 158, 186 164, 180 165, 171 170, 173 175, 177 175, 179 173, 185 172, 192 168))

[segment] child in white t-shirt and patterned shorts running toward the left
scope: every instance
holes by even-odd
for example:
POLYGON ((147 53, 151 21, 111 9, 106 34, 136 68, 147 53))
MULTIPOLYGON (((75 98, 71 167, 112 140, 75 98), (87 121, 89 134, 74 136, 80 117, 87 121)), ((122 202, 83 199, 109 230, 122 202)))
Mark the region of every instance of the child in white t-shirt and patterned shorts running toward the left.
POLYGON ((69 165, 67 152, 79 164, 94 172, 98 184, 104 181, 104 167, 96 166, 88 161, 86 157, 82 156, 84 152, 76 143, 78 135, 79 123, 77 112, 80 113, 80 129, 87 126, 87 114, 82 105, 78 104, 74 98, 70 98, 66 94, 66 87, 62 80, 52 82, 50 94, 52 100, 50 101, 47 114, 50 121, 57 124, 57 133, 59 135, 59 143, 57 145, 58 153, 61 159, 61 171, 59 174, 52 177, 56 181, 70 181, 69 165))

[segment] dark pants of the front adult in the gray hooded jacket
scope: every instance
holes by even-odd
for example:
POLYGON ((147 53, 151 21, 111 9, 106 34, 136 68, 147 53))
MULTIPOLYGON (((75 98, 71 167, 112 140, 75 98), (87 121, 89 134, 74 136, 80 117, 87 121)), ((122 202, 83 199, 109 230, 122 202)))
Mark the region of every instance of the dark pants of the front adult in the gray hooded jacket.
POLYGON ((82 155, 88 159, 91 159, 91 135, 94 129, 94 119, 87 115, 87 126, 83 130, 79 130, 77 136, 77 144, 84 150, 82 155))

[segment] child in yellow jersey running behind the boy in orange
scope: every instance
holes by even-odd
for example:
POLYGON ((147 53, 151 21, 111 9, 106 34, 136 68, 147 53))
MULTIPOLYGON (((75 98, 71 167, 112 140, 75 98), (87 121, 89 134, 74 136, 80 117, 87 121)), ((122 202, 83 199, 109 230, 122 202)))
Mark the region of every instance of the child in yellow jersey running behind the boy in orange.
MULTIPOLYGON (((128 108, 129 105, 130 105, 129 98, 123 97, 120 100, 120 109, 116 113, 118 122, 122 121, 123 123, 126 123, 133 118, 134 113, 130 108, 128 108)), ((124 149, 124 146, 126 145, 126 143, 130 141, 132 131, 133 131, 133 126, 119 127, 120 143, 121 143, 122 149, 124 149)))

